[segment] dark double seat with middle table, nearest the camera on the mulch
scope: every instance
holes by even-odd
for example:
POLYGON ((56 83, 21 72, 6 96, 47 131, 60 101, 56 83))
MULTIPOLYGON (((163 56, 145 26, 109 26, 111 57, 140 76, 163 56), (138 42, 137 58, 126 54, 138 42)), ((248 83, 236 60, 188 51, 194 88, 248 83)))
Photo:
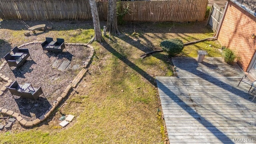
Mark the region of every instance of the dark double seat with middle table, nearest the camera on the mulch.
POLYGON ((41 86, 39 88, 33 88, 31 86, 23 90, 22 86, 24 85, 18 84, 18 82, 15 81, 9 87, 6 86, 6 88, 11 92, 12 95, 20 96, 22 98, 29 98, 32 100, 37 100, 41 94, 44 94, 41 86))

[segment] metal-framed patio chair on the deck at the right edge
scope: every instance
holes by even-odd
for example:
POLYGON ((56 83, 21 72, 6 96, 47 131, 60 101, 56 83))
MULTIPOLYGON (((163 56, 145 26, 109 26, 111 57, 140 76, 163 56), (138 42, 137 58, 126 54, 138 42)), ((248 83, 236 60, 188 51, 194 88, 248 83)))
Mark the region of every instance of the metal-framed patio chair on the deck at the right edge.
POLYGON ((255 80, 256 80, 256 69, 255 69, 255 68, 251 68, 251 70, 248 72, 248 74, 245 74, 245 75, 241 78, 241 80, 240 80, 240 82, 238 83, 237 86, 239 86, 239 84, 240 84, 241 82, 244 82, 244 83, 246 83, 246 84, 248 84, 248 85, 251 86, 250 89, 248 90, 248 92, 250 92, 250 90, 251 90, 251 88, 252 88, 252 83, 253 83, 255 80))

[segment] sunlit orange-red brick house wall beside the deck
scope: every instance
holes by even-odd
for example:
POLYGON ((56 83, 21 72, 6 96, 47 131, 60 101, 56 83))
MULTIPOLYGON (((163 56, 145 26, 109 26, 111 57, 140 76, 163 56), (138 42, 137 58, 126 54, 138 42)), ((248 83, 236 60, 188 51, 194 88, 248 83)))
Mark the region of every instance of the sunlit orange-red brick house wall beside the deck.
POLYGON ((256 35, 256 18, 229 2, 218 41, 222 46, 234 50, 239 57, 237 62, 244 71, 248 71, 250 62, 254 61, 256 38, 250 38, 252 34, 256 35))

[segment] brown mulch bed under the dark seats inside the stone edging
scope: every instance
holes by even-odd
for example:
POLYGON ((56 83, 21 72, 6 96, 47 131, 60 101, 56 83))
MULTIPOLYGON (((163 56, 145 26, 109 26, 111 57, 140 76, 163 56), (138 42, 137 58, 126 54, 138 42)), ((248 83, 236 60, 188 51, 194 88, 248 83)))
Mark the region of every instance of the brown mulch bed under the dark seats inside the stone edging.
POLYGON ((72 82, 89 57, 90 49, 85 46, 68 45, 63 52, 44 52, 40 44, 30 44, 22 48, 28 48, 31 58, 29 57, 20 68, 10 69, 6 64, 0 73, 19 84, 30 83, 34 88, 41 86, 44 95, 40 95, 37 100, 30 100, 12 96, 6 90, 0 96, 0 107, 17 112, 25 120, 31 121, 42 116, 72 82), (56 61, 65 60, 71 62, 63 71, 53 65, 56 61))

